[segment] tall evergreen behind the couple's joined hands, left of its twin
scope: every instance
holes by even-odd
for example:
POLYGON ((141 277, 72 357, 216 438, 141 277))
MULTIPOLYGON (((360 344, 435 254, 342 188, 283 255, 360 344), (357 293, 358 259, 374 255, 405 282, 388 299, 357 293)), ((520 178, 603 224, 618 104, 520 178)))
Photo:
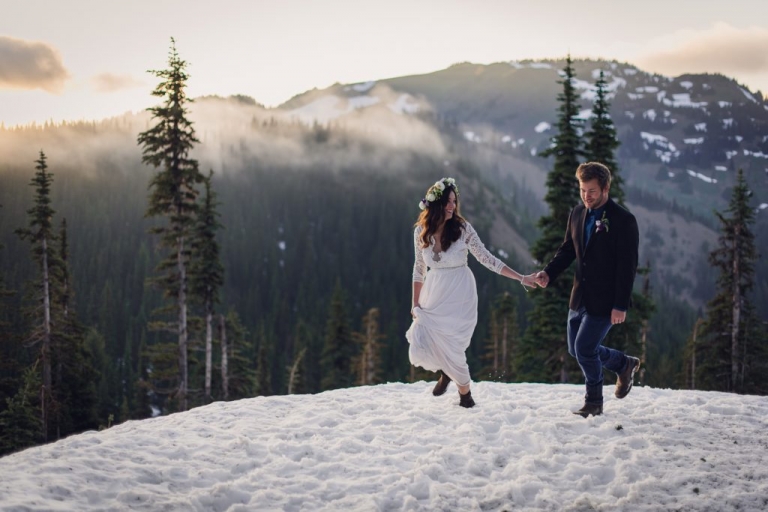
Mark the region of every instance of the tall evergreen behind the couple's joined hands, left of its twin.
MULTIPOLYGON (((573 61, 570 55, 563 70, 563 92, 558 95, 557 134, 552 146, 541 155, 554 156, 554 166, 547 175, 549 214, 539 219, 541 236, 534 243, 531 253, 536 261, 546 264, 563 243, 571 209, 579 201, 575 178, 579 158, 582 156, 579 103, 573 85, 573 61)), ((566 366, 568 344, 566 341, 565 313, 573 284, 573 270, 569 269, 550 282, 546 288, 533 294, 533 309, 528 316, 528 329, 517 355, 518 380, 540 382, 567 382, 569 373, 577 375, 578 367, 566 366), (559 320, 561 319, 561 320, 559 320)))

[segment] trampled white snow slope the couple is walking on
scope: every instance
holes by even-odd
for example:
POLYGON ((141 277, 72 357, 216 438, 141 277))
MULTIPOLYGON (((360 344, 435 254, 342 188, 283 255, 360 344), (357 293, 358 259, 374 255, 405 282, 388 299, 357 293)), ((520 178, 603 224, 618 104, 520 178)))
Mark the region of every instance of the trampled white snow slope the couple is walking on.
POLYGON ((214 403, 0 459, 0 510, 766 510, 768 397, 391 383, 214 403))

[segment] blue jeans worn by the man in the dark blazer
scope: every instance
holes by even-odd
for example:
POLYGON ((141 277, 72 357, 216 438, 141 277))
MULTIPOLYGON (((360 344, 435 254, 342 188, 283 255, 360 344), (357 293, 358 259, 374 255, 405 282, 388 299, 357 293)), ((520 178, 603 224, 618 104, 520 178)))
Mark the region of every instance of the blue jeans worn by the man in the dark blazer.
POLYGON ((619 373, 626 366, 623 352, 602 345, 611 330, 611 317, 568 310, 568 353, 576 358, 587 381, 588 404, 603 404, 603 367, 619 373))

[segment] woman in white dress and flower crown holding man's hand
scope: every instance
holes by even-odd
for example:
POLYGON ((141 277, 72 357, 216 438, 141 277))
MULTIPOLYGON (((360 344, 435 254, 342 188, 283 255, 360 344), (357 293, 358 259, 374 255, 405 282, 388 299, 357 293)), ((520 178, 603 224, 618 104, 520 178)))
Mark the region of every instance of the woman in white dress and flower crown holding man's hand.
POLYGON ((422 212, 413 231, 413 323, 405 333, 408 355, 414 366, 439 372, 432 390, 435 396, 445 393, 453 380, 459 388, 459 405, 472 407, 465 351, 477 325, 477 286, 467 253, 523 287, 533 286, 534 279, 510 269, 485 248, 459 213, 459 187, 453 178, 432 185, 419 207, 422 212))

